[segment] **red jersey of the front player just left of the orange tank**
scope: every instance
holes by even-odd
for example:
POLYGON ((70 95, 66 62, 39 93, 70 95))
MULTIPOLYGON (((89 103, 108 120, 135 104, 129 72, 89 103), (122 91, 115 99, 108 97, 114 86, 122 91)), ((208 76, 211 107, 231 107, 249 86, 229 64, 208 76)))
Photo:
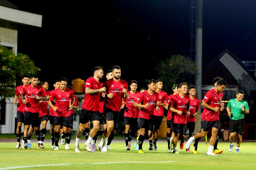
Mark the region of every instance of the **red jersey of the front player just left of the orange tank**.
POLYGON ((64 91, 61 91, 60 88, 53 91, 50 100, 51 102, 56 100, 55 106, 58 108, 54 116, 59 117, 68 117, 70 116, 69 112, 69 99, 74 98, 74 92, 70 88, 66 87, 64 91))

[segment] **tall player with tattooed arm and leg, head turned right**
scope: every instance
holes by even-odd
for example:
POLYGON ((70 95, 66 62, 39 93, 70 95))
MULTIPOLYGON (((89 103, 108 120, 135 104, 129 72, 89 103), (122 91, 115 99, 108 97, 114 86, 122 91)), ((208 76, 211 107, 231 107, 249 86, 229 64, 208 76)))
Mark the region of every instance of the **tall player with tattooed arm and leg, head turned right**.
POLYGON ((84 143, 84 146, 88 152, 91 152, 91 140, 94 138, 99 129, 99 100, 101 95, 105 97, 105 93, 103 92, 106 91, 105 87, 101 87, 101 83, 99 81, 103 77, 103 68, 95 67, 93 69, 93 75, 93 77, 88 78, 85 81, 85 98, 81 109, 79 127, 76 130, 75 152, 80 152, 79 140, 87 122, 90 121, 93 123, 93 128, 89 133, 89 137, 84 143))

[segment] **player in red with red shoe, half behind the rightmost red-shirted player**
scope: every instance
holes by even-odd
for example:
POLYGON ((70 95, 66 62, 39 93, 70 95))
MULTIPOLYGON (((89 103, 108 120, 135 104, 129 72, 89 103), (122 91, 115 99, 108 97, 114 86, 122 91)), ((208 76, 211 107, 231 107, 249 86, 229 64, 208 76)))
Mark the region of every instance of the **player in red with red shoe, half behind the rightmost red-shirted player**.
MULTIPOLYGON (((188 87, 188 93, 189 93, 189 112, 190 115, 186 115, 186 120, 187 120, 187 129, 189 131, 189 136, 193 136, 194 130, 195 130, 195 125, 196 125, 196 116, 197 113, 199 112, 200 108, 200 101, 196 97, 196 87, 195 86, 190 86, 188 87)), ((187 152, 190 152, 190 149, 186 149, 187 152)))

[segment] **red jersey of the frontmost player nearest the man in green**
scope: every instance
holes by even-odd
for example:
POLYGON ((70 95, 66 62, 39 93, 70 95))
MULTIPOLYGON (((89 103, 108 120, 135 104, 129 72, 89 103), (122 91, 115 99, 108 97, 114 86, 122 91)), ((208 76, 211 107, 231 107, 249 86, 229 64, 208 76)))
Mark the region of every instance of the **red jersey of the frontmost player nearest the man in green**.
MULTIPOLYGON (((221 100, 223 97, 223 93, 217 93, 215 89, 209 90, 204 98, 203 101, 207 103, 211 107, 220 107, 221 106, 221 100)), ((202 114, 202 120, 206 121, 217 121, 219 120, 219 111, 214 112, 211 109, 204 108, 203 109, 203 114, 202 114)))

